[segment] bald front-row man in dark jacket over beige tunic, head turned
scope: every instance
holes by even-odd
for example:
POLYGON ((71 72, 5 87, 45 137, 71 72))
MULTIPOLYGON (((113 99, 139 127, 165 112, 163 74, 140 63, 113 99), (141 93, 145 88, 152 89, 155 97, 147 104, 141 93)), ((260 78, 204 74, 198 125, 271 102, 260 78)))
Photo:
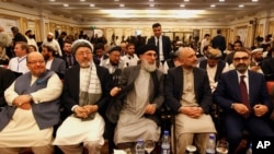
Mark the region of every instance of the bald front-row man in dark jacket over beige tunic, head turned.
POLYGON ((165 79, 164 96, 175 116, 176 153, 194 144, 204 154, 208 133, 216 132, 209 114, 212 91, 205 70, 196 68, 197 58, 190 47, 179 49, 182 66, 170 69, 165 79))

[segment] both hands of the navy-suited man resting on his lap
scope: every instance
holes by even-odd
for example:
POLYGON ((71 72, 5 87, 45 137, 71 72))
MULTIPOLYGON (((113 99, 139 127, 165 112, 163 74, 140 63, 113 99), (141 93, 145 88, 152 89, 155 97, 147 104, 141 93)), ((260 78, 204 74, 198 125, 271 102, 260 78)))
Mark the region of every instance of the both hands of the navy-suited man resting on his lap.
MULTIPOLYGON (((244 115, 250 111, 250 109, 241 103, 235 103, 233 109, 240 115, 244 115)), ((253 107, 253 110, 256 117, 262 117, 269 111, 269 107, 266 105, 258 104, 253 107)))

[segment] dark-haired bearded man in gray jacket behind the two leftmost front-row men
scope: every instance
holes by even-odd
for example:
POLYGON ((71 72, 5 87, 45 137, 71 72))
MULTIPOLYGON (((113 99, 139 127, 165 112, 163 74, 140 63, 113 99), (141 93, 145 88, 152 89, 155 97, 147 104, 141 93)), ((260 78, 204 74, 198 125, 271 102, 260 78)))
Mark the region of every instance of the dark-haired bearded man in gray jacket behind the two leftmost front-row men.
POLYGON ((43 46, 42 55, 46 60, 46 69, 55 71, 62 78, 66 71, 66 62, 64 59, 55 57, 55 49, 52 46, 43 46))

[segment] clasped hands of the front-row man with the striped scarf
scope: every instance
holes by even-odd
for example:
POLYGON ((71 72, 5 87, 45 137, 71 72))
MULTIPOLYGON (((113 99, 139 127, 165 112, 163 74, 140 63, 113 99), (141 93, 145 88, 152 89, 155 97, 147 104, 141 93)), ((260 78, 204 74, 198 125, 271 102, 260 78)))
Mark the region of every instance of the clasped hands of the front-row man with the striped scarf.
POLYGON ((98 105, 77 106, 73 111, 79 118, 88 118, 90 114, 98 111, 98 105))

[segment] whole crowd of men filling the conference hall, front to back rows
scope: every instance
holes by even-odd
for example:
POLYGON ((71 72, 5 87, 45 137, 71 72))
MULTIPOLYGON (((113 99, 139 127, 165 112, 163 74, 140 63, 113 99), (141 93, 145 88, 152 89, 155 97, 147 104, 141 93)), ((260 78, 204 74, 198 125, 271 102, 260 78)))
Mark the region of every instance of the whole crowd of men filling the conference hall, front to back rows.
POLYGON ((175 119, 173 153, 192 144, 206 153, 209 133, 220 127, 213 104, 226 115, 229 153, 239 153, 242 130, 274 137, 265 81, 274 74, 272 44, 250 49, 238 36, 227 47, 218 29, 213 39, 205 35, 197 57, 191 47, 172 48, 160 23, 152 31, 145 45, 122 42, 107 49, 103 42, 67 39, 65 32, 58 39, 48 33, 41 47, 30 29, 24 36, 12 27, 10 43, 1 34, 0 152, 99 154, 105 139, 109 153, 133 149, 137 139, 158 142, 163 129, 171 130, 160 118, 165 105, 175 119))

